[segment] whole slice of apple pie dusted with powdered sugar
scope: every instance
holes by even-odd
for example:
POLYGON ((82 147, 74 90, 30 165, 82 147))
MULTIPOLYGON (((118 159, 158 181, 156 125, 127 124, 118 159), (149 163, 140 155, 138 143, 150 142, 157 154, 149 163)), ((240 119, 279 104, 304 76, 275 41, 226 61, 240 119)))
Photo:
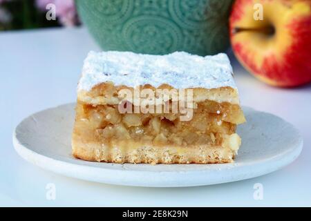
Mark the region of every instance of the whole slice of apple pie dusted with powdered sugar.
POLYGON ((225 54, 90 52, 75 111, 73 155, 98 162, 233 162, 245 122, 225 54))

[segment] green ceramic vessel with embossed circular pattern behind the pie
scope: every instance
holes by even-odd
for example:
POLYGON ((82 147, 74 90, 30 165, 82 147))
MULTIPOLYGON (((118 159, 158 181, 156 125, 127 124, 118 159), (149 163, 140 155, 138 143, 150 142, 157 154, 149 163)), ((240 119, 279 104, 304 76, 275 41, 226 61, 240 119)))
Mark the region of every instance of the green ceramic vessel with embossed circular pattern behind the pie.
POLYGON ((229 46, 233 0, 76 0, 103 50, 214 55, 229 46))

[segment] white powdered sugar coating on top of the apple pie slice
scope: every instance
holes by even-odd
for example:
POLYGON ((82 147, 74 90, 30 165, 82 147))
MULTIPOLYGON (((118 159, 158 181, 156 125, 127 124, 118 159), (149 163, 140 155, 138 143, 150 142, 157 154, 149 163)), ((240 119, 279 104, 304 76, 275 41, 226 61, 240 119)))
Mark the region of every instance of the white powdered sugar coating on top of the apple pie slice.
POLYGON ((158 88, 224 88, 236 90, 227 55, 200 57, 187 52, 169 55, 142 55, 133 52, 89 52, 84 60, 78 93, 111 81, 115 86, 158 88))

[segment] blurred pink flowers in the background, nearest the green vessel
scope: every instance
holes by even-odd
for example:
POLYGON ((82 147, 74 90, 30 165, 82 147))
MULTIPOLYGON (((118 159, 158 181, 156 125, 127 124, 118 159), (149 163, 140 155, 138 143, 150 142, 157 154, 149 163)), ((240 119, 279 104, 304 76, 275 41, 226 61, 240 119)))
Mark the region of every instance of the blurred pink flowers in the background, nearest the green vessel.
POLYGON ((46 10, 48 3, 53 3, 55 5, 56 16, 62 25, 75 26, 79 23, 74 0, 36 0, 37 7, 42 11, 46 10))

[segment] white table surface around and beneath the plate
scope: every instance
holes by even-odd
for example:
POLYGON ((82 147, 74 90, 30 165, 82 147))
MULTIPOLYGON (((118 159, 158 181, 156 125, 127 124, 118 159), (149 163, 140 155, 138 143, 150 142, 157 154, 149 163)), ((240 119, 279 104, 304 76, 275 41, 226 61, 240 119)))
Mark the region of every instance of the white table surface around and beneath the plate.
POLYGON ((99 50, 84 28, 0 32, 0 206, 311 206, 311 85, 266 86, 234 59, 241 103, 274 113, 299 128, 300 157, 280 171, 250 180, 191 188, 140 188, 76 180, 24 161, 12 131, 28 115, 75 102, 82 61, 99 50), (55 184, 55 200, 46 185, 55 184), (263 200, 254 200, 254 184, 263 200))

